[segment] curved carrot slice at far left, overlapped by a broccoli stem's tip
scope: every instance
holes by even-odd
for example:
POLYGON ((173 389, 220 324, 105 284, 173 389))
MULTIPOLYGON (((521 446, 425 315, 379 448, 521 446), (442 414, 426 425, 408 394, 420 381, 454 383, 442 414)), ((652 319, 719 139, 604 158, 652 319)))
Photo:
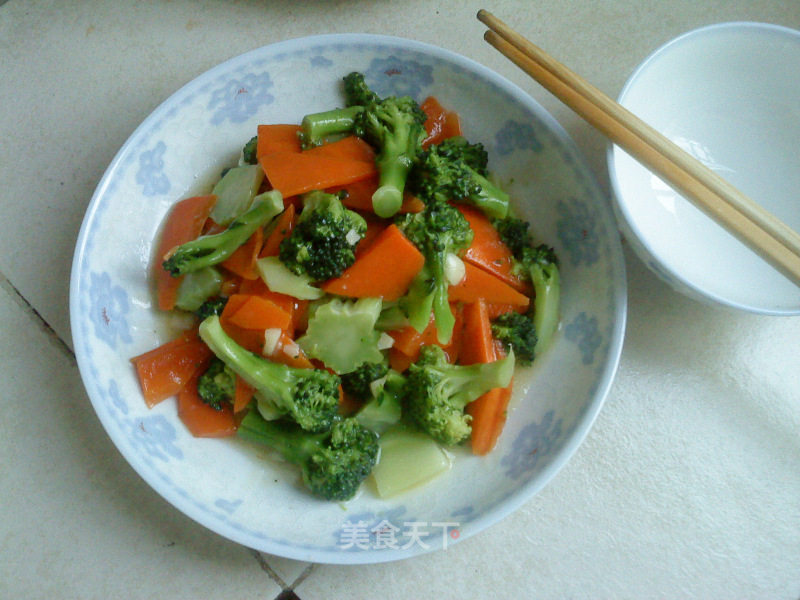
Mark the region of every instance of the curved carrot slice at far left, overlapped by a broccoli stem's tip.
POLYGON ((161 310, 175 308, 178 288, 183 281, 183 277, 173 277, 161 266, 164 255, 176 246, 190 242, 200 235, 216 201, 217 197, 213 194, 181 200, 172 208, 164 222, 152 267, 158 308, 161 310))

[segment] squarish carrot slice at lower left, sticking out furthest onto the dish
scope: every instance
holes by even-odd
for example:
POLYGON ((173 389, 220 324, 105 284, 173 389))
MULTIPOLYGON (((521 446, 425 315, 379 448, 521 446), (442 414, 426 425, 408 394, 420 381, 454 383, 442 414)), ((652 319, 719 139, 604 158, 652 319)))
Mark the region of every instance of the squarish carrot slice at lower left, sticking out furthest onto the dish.
POLYGON ((189 379, 209 364, 212 353, 196 331, 188 331, 131 359, 145 404, 152 408, 174 396, 189 379))

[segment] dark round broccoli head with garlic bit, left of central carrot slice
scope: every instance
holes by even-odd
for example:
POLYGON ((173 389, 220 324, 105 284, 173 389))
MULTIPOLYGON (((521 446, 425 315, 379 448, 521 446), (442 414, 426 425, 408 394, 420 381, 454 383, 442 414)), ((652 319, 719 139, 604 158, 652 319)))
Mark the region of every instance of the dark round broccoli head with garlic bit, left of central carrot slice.
POLYGON ((366 231, 364 218, 345 208, 336 195, 311 192, 278 257, 292 273, 312 281, 338 277, 355 262, 356 244, 366 231))

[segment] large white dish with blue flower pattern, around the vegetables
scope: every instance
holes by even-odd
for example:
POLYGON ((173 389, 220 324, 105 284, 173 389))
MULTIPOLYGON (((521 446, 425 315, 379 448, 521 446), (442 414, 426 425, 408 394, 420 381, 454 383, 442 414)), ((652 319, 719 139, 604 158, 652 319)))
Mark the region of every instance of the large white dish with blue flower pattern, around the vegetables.
POLYGON ((600 410, 622 345, 625 303, 609 203, 543 109, 464 57, 353 34, 254 50, 158 107, 120 150, 91 201, 75 251, 70 312, 97 415, 159 494, 252 548, 314 562, 368 563, 446 547, 545 485, 600 410), (170 206, 207 189, 257 124, 297 123, 307 112, 340 104, 340 79, 351 70, 363 71, 381 95, 435 94, 460 113, 470 139, 486 144, 490 166, 520 212, 560 255, 563 327, 550 351, 518 379, 507 428, 490 456, 459 451, 453 468, 427 487, 390 501, 365 489, 340 505, 311 497, 294 469, 265 460, 252 446, 192 438, 172 401, 145 408, 129 358, 169 339, 175 327, 155 310, 147 277, 153 239, 170 206), (415 528, 421 542, 411 535, 415 528))

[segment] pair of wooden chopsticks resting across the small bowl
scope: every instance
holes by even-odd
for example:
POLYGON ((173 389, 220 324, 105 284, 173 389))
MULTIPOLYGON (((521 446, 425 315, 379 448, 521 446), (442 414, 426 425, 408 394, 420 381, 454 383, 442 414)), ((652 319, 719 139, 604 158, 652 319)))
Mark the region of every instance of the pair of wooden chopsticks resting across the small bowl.
POLYGON ((800 286, 800 234, 491 13, 484 39, 800 286))

